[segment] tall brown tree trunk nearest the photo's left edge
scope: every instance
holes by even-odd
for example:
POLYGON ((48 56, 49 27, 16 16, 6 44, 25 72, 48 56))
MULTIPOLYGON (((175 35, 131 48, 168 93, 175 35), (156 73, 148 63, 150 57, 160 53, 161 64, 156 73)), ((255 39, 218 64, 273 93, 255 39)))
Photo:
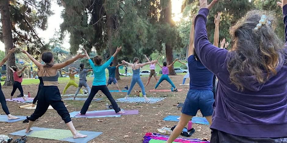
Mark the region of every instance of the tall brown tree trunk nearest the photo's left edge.
MULTIPOLYGON (((0 13, 1 13, 1 23, 3 32, 3 41, 5 44, 5 55, 8 54, 9 49, 13 48, 13 38, 11 31, 11 21, 10 21, 10 11, 9 11, 9 1, 0 0, 0 13)), ((10 67, 15 66, 15 54, 11 54, 6 65, 10 67)), ((7 68, 6 80, 4 85, 13 85, 13 72, 7 68)))

